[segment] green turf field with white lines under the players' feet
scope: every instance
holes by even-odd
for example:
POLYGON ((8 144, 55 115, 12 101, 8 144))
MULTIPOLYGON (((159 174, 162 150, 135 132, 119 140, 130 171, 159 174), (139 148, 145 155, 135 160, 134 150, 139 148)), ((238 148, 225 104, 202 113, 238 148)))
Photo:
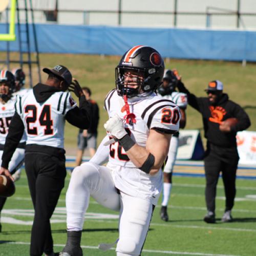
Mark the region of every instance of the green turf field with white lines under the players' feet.
MULTIPOLYGON (((65 193, 69 182, 62 190, 57 209, 52 220, 55 251, 61 250, 66 242, 65 193)), ((150 231, 144 245, 142 255, 167 254, 186 255, 255 255, 256 251, 256 204, 255 199, 247 195, 255 195, 256 180, 237 180, 237 201, 233 208, 232 223, 221 223, 224 211, 224 189, 220 180, 217 193, 217 224, 206 224, 202 221, 205 214, 204 178, 174 177, 174 186, 169 207, 169 222, 159 218, 159 205, 156 207, 151 222, 150 231), (165 253, 165 254, 166 254, 165 253), (200 254, 201 253, 201 254, 200 254)), ((29 196, 25 172, 22 179, 16 183, 16 193, 7 200, 2 220, 6 217, 13 220, 32 221, 33 215, 15 215, 6 212, 10 209, 33 209, 29 196)), ((84 255, 114 255, 113 250, 102 252, 96 247, 99 243, 113 243, 118 238, 118 213, 105 209, 91 199, 88 213, 100 214, 98 219, 87 217, 82 233, 81 245, 84 255), (114 215, 106 219, 102 214, 114 215), (89 247, 89 248, 88 248, 89 247), (93 247, 93 248, 92 248, 93 247)), ((30 212, 31 214, 31 212, 30 212)), ((3 230, 0 233, 0 255, 28 255, 31 225, 10 224, 2 221, 3 230)))

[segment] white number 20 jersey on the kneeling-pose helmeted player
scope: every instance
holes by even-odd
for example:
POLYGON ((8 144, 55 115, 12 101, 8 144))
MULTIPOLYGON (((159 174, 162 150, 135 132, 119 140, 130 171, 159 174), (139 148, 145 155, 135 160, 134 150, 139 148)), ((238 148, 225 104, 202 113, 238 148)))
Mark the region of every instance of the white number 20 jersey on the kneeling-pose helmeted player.
MULTIPOLYGON (((124 123, 125 130, 140 146, 145 147, 152 128, 175 133, 179 130, 180 111, 177 105, 168 99, 163 99, 155 93, 148 97, 128 98, 130 112, 136 115, 136 123, 124 123)), ((105 99, 105 109, 109 117, 115 114, 124 118, 126 115, 123 98, 117 91, 111 91, 105 99)), ((110 145, 109 163, 113 170, 115 186, 132 196, 156 197, 161 191, 162 172, 150 176, 138 169, 127 157, 119 142, 110 145), (119 166, 119 167, 118 167, 119 166), (127 168, 129 170, 127 171, 127 168), (125 170, 126 169, 126 170, 125 170)))

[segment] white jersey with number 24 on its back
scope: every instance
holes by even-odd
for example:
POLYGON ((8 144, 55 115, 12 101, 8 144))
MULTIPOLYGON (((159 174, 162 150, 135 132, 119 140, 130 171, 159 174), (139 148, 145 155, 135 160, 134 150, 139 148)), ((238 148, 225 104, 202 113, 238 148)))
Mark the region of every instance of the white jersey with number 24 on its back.
POLYGON ((45 102, 37 102, 33 90, 17 96, 16 111, 23 120, 26 144, 64 147, 65 115, 75 108, 69 92, 56 92, 45 102))

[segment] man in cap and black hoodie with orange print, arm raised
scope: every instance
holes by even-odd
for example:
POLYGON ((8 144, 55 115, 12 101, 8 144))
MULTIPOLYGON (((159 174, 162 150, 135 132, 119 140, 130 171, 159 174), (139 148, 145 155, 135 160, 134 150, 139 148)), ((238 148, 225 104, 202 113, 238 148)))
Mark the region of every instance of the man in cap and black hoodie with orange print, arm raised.
POLYGON ((250 119, 240 105, 228 99, 223 93, 219 80, 211 81, 205 90, 208 97, 196 97, 179 80, 178 89, 186 93, 188 104, 202 114, 207 149, 204 157, 206 177, 205 200, 207 214, 204 221, 215 223, 215 198, 220 172, 222 172, 226 195, 226 207, 222 222, 232 221, 231 209, 236 196, 236 172, 239 161, 236 134, 250 126, 250 119), (228 118, 238 122, 230 126, 224 122, 228 118))

